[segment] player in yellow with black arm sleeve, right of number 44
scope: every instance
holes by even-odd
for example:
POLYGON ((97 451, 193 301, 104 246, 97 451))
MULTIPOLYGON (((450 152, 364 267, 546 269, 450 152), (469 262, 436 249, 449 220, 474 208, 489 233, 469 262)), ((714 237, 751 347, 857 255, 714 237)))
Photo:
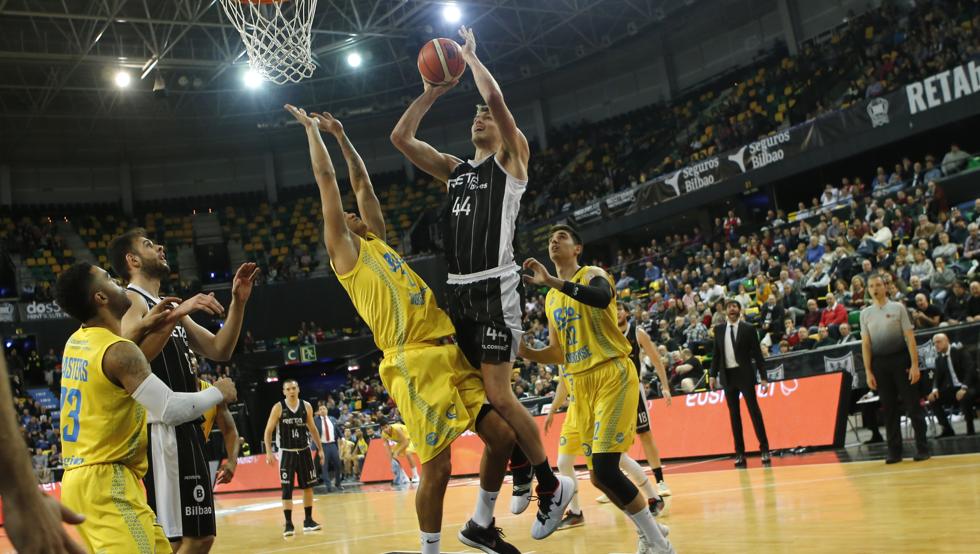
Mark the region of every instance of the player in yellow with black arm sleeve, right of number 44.
POLYGON ((673 552, 653 519, 648 499, 619 469, 620 456, 636 434, 640 381, 629 359, 630 343, 619 330, 612 278, 599 267, 578 263, 582 240, 567 225, 552 228, 548 255, 558 277, 529 258, 524 279, 550 288, 545 297, 548 346, 521 343, 520 355, 540 364, 564 364, 571 403, 592 484, 633 520, 640 554, 673 552))

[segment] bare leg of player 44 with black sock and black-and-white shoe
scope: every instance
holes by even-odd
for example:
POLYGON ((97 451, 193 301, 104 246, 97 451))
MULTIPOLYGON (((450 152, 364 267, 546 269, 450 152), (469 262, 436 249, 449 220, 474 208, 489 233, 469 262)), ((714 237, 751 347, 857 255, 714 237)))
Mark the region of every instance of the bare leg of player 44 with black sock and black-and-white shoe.
POLYGON ((574 481, 565 476, 556 476, 545 455, 544 445, 534 418, 527 411, 510 388, 510 375, 513 364, 483 363, 481 373, 487 391, 487 400, 500 416, 510 424, 517 437, 517 443, 527 454, 538 479, 538 518, 534 520, 531 536, 543 539, 558 529, 561 516, 572 500, 574 481))

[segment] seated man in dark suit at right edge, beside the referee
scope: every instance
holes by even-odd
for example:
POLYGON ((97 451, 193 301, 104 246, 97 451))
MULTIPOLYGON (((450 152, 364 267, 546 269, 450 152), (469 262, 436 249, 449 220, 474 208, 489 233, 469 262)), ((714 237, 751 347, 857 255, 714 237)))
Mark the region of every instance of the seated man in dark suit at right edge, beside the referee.
POLYGON ((943 426, 941 437, 952 437, 953 426, 949 424, 946 417, 945 407, 948 405, 958 405, 963 419, 966 420, 966 434, 973 435, 976 429, 973 424, 973 402, 977 398, 977 370, 973 367, 973 360, 967 356, 963 349, 953 350, 949 344, 949 338, 943 333, 932 337, 933 344, 936 345, 936 374, 932 383, 932 392, 929 394, 929 403, 932 411, 936 414, 936 419, 943 426))

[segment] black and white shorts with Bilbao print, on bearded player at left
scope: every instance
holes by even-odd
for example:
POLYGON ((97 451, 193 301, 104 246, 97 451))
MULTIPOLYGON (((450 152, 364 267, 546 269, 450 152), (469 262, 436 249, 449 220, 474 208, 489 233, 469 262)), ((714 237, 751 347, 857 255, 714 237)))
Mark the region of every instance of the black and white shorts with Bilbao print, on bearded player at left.
POLYGON ((171 541, 215 534, 211 470, 197 423, 147 426, 146 500, 171 541))

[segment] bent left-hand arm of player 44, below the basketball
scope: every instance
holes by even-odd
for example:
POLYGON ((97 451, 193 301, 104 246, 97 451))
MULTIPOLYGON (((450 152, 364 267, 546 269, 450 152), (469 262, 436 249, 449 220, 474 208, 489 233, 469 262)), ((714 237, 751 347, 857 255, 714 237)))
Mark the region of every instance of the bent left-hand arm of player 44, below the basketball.
POLYGON ((424 83, 422 96, 419 96, 408 106, 401 119, 391 132, 391 143, 419 169, 439 179, 443 183, 449 180, 453 169, 462 163, 456 156, 443 154, 427 142, 419 140, 415 135, 419 131, 419 123, 425 116, 436 98, 456 86, 456 82, 448 85, 435 86, 424 83))

